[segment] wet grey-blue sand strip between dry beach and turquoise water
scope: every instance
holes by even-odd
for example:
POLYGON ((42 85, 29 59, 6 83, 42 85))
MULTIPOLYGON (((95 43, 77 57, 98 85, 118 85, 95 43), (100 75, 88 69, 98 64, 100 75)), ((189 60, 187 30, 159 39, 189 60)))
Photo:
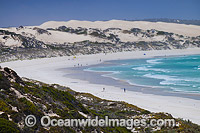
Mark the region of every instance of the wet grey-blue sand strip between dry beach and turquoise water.
POLYGON ((88 81, 90 84, 105 85, 105 86, 109 85, 109 86, 115 86, 121 89, 126 88, 127 91, 142 92, 144 94, 174 96, 174 97, 200 100, 200 93, 188 93, 184 91, 174 91, 168 88, 132 84, 126 80, 121 80, 118 78, 114 78, 112 76, 106 76, 107 74, 110 74, 112 72, 98 72, 98 71, 85 70, 90 67, 99 67, 99 66, 108 66, 108 65, 112 65, 112 63, 110 63, 110 61, 106 61, 97 65, 91 65, 87 67, 63 68, 63 69, 59 69, 58 71, 67 73, 66 75, 64 75, 64 77, 70 77, 72 79, 88 81))

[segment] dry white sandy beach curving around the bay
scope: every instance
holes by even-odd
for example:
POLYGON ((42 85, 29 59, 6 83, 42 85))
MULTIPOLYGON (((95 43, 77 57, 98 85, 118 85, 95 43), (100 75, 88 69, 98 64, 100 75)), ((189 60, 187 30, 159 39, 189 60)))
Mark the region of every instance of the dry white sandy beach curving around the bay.
POLYGON ((171 55, 190 55, 200 54, 200 49, 186 50, 160 50, 160 51, 133 51, 110 54, 95 54, 95 55, 80 55, 73 58, 55 57, 24 61, 13 61, 1 63, 2 67, 10 67, 15 70, 20 76, 39 80, 45 83, 57 83, 68 86, 71 89, 79 92, 91 93, 100 98, 109 100, 125 101, 138 107, 147 109, 153 112, 167 112, 174 117, 190 119, 192 122, 200 124, 200 100, 189 98, 174 97, 174 96, 158 96, 153 94, 143 94, 141 92, 123 91, 114 86, 105 86, 99 84, 91 84, 88 81, 66 78, 60 68, 73 67, 74 65, 82 64, 98 64, 99 60, 118 60, 118 59, 136 59, 136 58, 151 58, 154 56, 171 56, 171 55), (146 53, 146 55, 144 55, 146 53), (106 91, 102 92, 105 87, 106 91))

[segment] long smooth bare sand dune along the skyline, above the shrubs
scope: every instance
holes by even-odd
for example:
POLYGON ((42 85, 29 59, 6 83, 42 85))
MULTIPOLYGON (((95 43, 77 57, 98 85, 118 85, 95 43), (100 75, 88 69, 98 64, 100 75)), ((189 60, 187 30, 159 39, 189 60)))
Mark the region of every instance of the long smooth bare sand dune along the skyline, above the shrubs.
POLYGON ((72 28, 121 28, 123 30, 130 30, 131 28, 140 28, 143 30, 156 29, 160 31, 172 32, 186 36, 199 36, 200 26, 175 24, 165 22, 147 22, 147 21, 123 21, 123 20, 110 20, 110 21, 48 21, 40 25, 41 28, 58 28, 59 26, 67 26, 72 28))

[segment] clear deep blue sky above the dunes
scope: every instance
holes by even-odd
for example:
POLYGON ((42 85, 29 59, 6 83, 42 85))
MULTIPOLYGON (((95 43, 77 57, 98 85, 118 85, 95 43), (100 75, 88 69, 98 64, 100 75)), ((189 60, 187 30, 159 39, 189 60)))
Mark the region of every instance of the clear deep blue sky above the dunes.
POLYGON ((148 18, 200 20, 200 0, 0 0, 0 27, 148 18))

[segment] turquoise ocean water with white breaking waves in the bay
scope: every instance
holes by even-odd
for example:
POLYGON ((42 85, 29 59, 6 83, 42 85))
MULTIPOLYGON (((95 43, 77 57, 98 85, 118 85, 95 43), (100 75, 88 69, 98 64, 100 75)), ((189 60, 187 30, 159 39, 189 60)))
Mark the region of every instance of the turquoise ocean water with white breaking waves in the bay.
POLYGON ((87 70, 133 85, 200 93, 200 55, 111 61, 113 65, 87 70))

